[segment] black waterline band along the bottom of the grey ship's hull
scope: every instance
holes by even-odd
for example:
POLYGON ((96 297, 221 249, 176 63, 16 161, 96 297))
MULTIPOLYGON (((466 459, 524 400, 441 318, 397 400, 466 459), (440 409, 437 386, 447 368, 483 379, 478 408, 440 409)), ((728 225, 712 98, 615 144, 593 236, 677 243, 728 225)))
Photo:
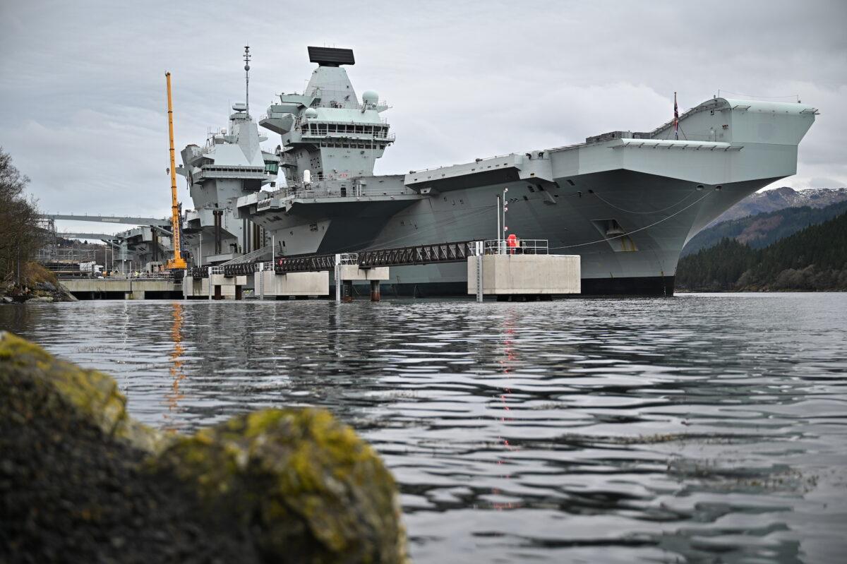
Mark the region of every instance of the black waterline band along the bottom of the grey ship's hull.
MULTIPOLYGON (((467 282, 383 284, 385 297, 468 297, 467 282)), ((641 278, 584 278, 580 296, 673 296, 673 276, 641 278)))

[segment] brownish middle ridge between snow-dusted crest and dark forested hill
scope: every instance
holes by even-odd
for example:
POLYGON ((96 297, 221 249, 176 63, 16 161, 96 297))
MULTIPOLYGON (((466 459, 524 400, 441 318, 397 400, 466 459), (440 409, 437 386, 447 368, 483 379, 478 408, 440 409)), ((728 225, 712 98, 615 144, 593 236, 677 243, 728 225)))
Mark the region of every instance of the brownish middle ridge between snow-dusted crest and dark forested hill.
POLYGON ((681 256, 686 257, 715 246, 723 239, 734 239, 751 248, 761 249, 800 229, 822 224, 844 212, 847 212, 847 200, 826 207, 785 207, 776 212, 730 219, 700 231, 684 246, 681 256))

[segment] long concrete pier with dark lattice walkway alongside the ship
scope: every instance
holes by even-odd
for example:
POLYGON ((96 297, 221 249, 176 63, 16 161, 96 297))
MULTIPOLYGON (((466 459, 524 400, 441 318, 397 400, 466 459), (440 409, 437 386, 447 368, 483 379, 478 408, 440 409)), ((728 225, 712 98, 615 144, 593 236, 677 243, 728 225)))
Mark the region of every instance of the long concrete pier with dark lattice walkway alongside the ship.
POLYGON ((189 268, 181 281, 175 281, 172 274, 152 273, 147 278, 69 279, 65 285, 82 299, 241 300, 245 287, 252 288, 260 299, 306 299, 329 294, 329 269, 333 269, 336 301, 352 301, 357 281, 369 282, 371 301, 379 301, 380 281, 390 280, 389 265, 467 261, 468 294, 476 294, 478 301, 486 295, 525 301, 580 293, 578 255, 548 254, 546 240, 513 242, 460 241, 368 251, 361 256, 354 252, 293 257, 280 259, 275 267, 268 262, 189 268))

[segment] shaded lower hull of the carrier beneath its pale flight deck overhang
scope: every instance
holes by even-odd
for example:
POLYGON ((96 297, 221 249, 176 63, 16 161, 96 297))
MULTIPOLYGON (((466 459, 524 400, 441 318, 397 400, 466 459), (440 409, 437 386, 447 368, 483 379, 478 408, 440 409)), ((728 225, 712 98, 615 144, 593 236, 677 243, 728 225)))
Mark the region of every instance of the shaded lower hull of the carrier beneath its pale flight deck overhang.
MULTIPOLYGON (((347 202, 338 219, 329 209, 325 214, 318 211, 329 204, 305 194, 298 199, 316 212, 314 221, 303 224, 296 213, 280 215, 273 209, 255 214, 253 220, 274 233, 278 255, 495 239, 492 202, 508 188, 509 230, 525 239, 548 240, 551 252, 579 254, 584 294, 668 296, 673 295, 684 243, 723 210, 773 180, 698 191, 689 182, 618 169, 554 179, 547 188, 522 180, 458 188, 396 202, 394 206, 402 208, 393 213, 361 201, 347 202), (350 207, 361 209, 351 213, 350 207), (651 226, 656 221, 661 224, 651 226), (628 235, 606 235, 609 224, 628 235)), ((467 268, 463 263, 391 268, 384 291, 398 296, 463 295, 467 268)))

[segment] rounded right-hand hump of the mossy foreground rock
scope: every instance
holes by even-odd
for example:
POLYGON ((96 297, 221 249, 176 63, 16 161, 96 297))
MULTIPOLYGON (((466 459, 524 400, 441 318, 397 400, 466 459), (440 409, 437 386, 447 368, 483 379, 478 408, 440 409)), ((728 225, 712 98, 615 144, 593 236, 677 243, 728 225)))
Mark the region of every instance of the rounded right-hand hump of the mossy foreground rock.
POLYGON ((193 484, 208 511, 235 511, 274 561, 404 559, 394 478, 329 412, 234 417, 178 440, 152 464, 193 484))

